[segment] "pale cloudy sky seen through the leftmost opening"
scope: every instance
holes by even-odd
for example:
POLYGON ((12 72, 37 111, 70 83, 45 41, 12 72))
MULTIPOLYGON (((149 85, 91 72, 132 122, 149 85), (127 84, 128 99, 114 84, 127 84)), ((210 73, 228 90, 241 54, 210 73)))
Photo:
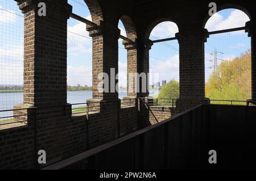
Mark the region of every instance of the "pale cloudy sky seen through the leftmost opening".
POLYGON ((16 2, 0 0, 0 85, 23 84, 23 30, 16 2))

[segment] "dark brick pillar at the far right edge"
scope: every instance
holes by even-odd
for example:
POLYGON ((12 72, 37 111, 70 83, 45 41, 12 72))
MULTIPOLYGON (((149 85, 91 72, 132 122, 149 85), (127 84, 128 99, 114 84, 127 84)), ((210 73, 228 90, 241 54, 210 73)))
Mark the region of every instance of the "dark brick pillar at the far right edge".
POLYGON ((251 37, 251 100, 248 102, 256 104, 256 23, 246 23, 246 32, 251 37))

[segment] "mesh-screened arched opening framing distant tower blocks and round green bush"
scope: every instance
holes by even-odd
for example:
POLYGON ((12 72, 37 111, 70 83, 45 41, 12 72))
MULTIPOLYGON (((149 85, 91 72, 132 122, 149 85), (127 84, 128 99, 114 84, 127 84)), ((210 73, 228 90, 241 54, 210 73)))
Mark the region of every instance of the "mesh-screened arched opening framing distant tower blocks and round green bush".
MULTIPOLYGON (((151 32, 150 40, 175 37, 179 32, 175 23, 163 22, 151 32)), ((155 43, 150 50, 150 96, 179 97, 179 43, 177 40, 155 43)))

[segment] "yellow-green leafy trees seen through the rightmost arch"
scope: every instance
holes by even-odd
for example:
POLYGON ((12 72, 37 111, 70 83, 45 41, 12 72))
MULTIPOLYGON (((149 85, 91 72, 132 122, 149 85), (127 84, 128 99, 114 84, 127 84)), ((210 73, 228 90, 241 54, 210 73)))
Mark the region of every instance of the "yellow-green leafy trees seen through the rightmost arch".
POLYGON ((223 61, 210 75, 205 95, 212 100, 251 98, 251 52, 247 50, 232 61, 223 61))

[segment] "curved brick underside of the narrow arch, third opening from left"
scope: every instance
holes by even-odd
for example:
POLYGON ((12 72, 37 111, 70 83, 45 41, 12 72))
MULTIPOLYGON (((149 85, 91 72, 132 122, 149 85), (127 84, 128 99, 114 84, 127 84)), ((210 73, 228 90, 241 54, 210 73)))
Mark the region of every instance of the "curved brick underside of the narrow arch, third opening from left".
POLYGON ((127 15, 121 16, 120 20, 125 27, 127 38, 135 41, 135 39, 137 39, 137 31, 134 26, 133 20, 127 15))

